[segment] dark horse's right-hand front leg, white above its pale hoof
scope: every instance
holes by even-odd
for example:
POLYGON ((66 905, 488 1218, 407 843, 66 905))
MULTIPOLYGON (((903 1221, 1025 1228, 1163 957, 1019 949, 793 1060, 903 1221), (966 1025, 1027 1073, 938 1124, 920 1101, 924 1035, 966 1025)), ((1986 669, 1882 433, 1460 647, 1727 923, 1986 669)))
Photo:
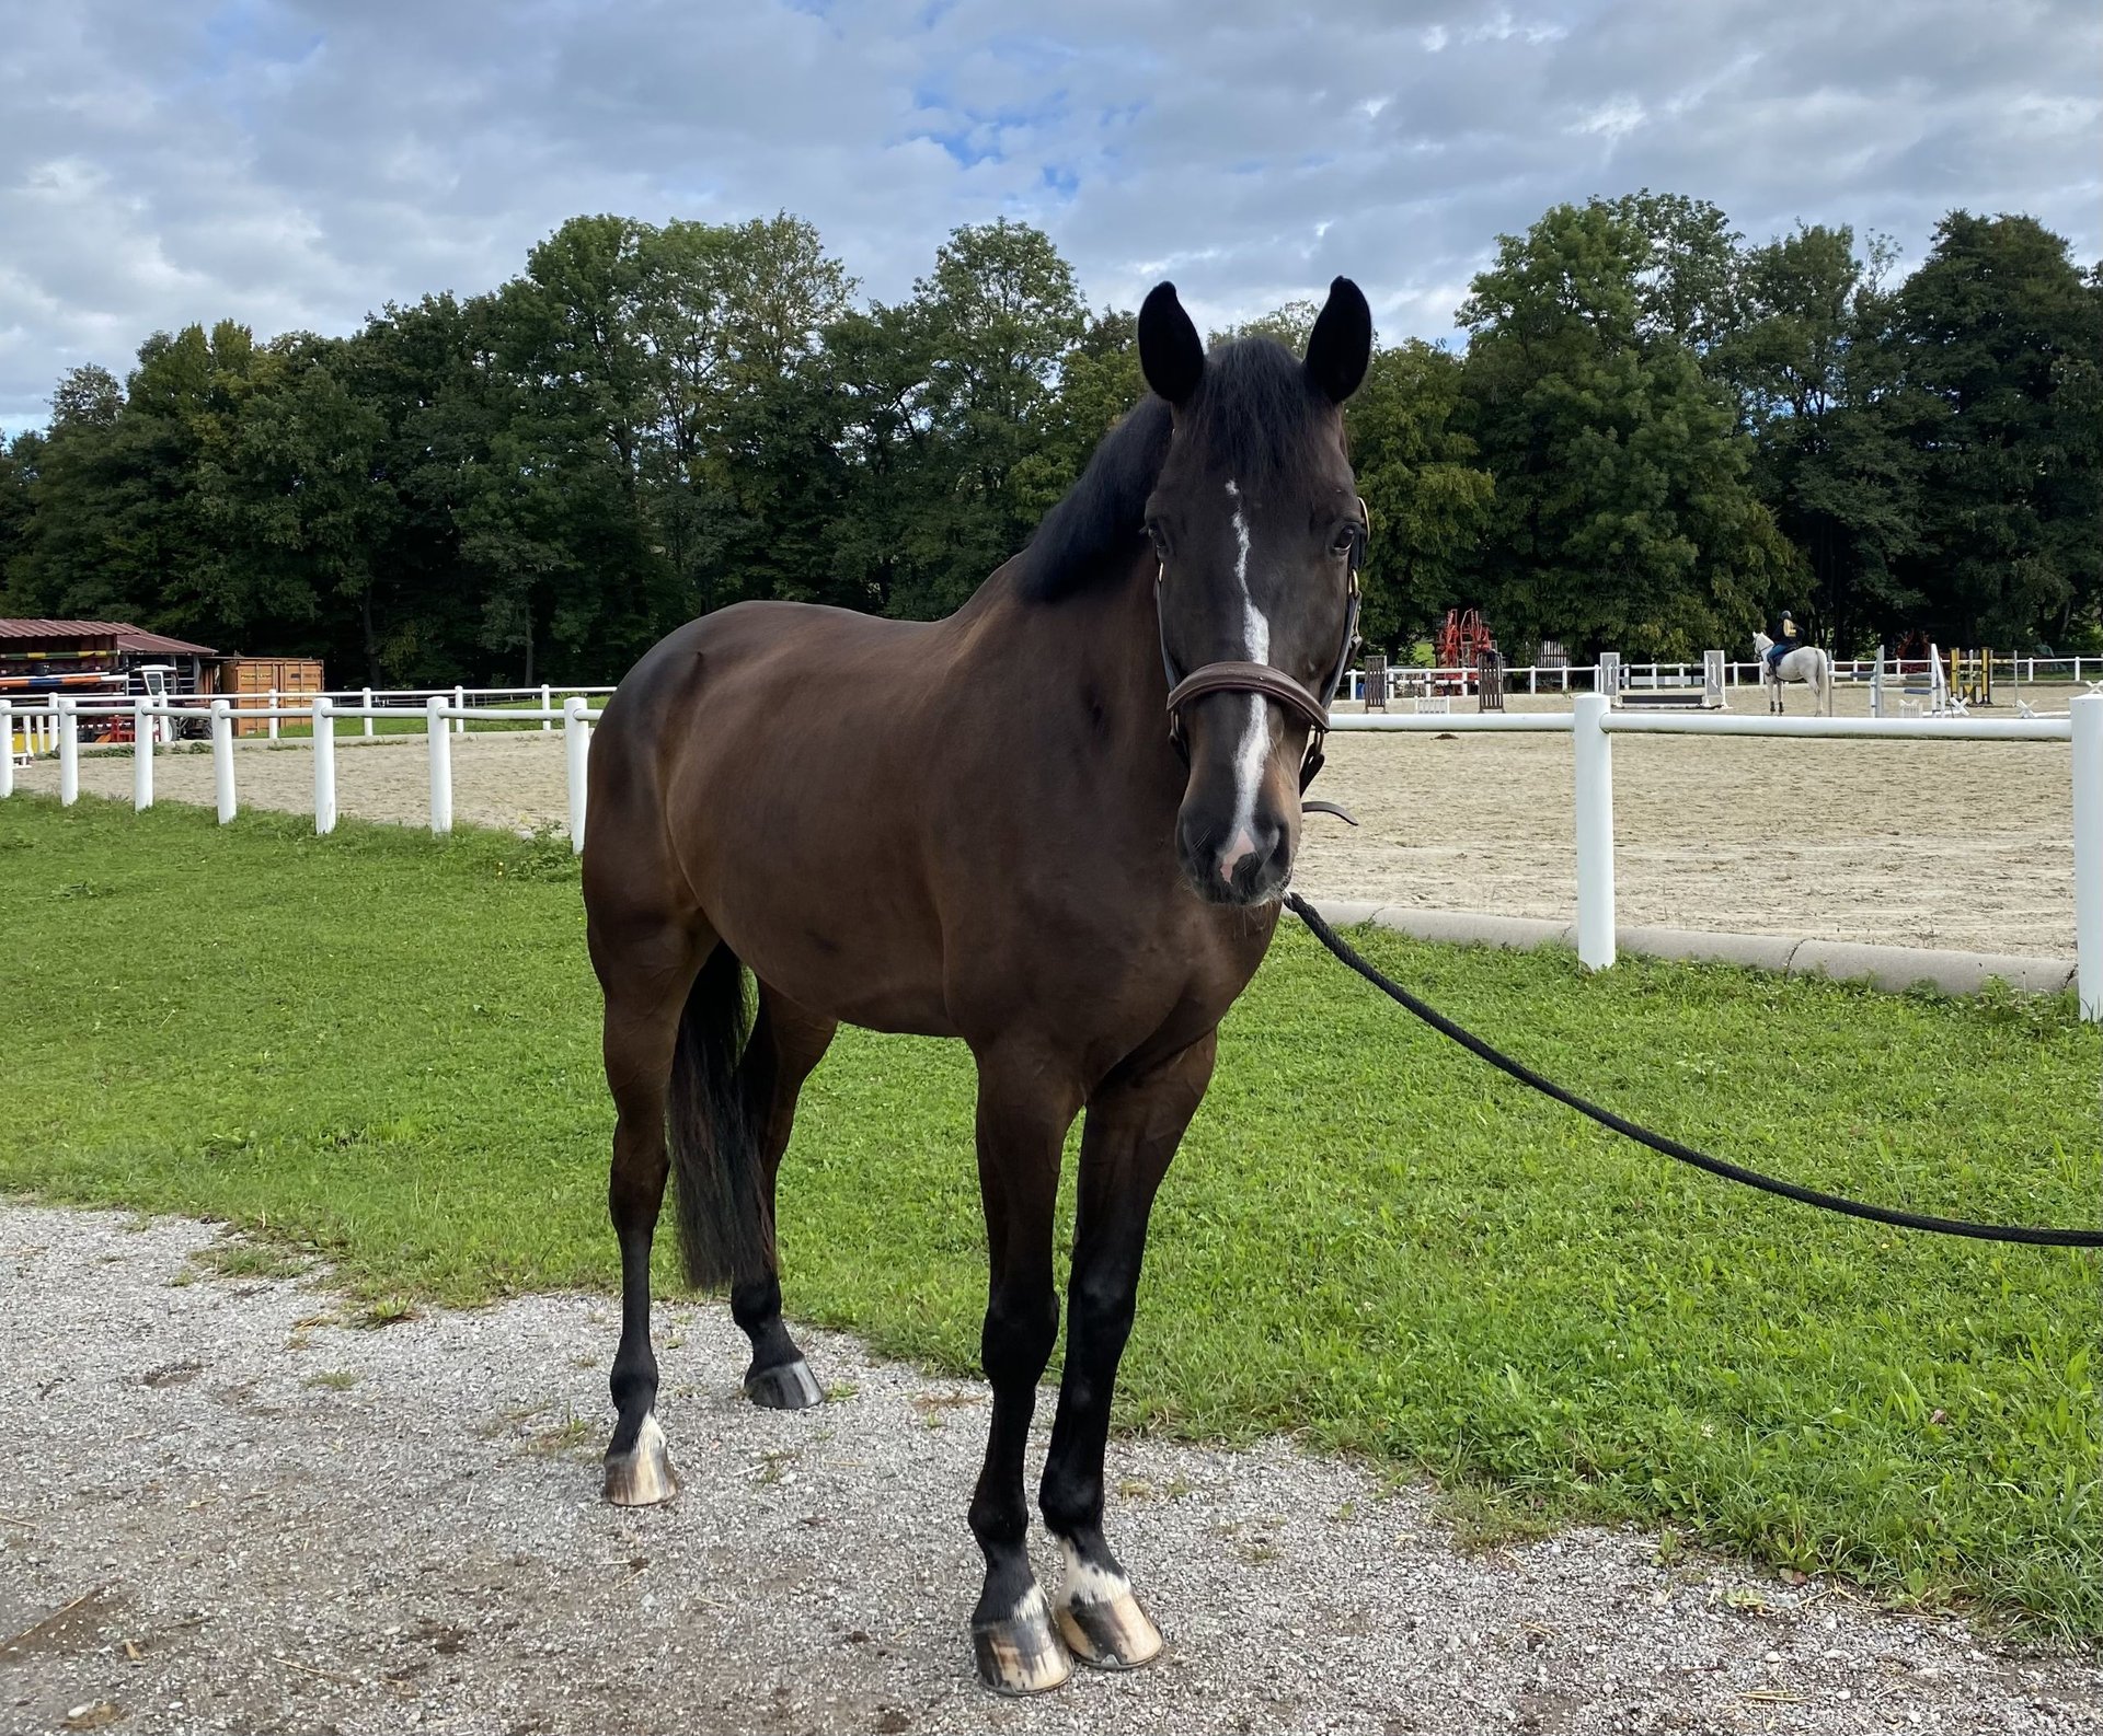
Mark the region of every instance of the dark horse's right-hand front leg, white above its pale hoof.
POLYGON ((1165 1063, 1106 1084, 1087 1105, 1081 1137, 1066 1377, 1039 1501, 1066 1559, 1056 1601, 1060 1635, 1096 1669, 1138 1669, 1161 1654, 1161 1629, 1102 1534, 1102 1461, 1117 1364, 1131 1337, 1146 1219, 1211 1082, 1213 1053, 1216 1038, 1207 1032, 1165 1063))

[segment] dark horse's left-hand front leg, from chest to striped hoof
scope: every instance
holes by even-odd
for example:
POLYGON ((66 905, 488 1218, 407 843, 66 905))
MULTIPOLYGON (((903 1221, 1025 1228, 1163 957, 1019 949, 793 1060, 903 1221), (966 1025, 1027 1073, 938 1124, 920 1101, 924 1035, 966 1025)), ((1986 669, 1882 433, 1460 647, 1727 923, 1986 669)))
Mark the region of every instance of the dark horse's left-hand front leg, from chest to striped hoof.
POLYGON ((986 1557, 986 1583, 972 1612, 972 1650, 980 1681, 997 1694, 1043 1694, 1073 1675, 1030 1570, 1022 1450, 1037 1410, 1037 1383, 1058 1341, 1052 1215, 1060 1148, 1079 1108, 1079 1091, 1062 1089, 1058 1070, 1041 1057, 980 1055, 978 1190, 991 1265, 980 1358, 993 1385, 993 1425, 969 1513, 986 1557))

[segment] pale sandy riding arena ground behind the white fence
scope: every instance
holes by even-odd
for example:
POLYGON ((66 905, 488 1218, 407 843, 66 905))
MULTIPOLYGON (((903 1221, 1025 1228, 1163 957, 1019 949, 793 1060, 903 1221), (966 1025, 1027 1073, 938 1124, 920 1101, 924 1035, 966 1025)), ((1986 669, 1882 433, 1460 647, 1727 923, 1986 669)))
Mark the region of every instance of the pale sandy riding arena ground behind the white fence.
MULTIPOLYGON (((2027 689, 2065 710, 2069 689, 2027 689)), ((1512 698, 1512 708, 1560 706, 1512 698)), ((1758 710, 1735 689, 1733 710, 1758 710)), ((1794 689, 1792 710, 1809 708, 1794 689)), ((1842 689, 1842 715, 1867 715, 1842 689)), ((1985 712, 1981 712, 1985 715, 1985 712)), ((2013 717, 2002 704, 1994 717, 2013 717)), ((1886 946, 2065 956, 2074 952, 2074 799, 2061 742, 1794 742, 1621 736, 1613 748, 1619 921, 1788 933, 1886 946)), ((21 773, 57 788, 57 767, 21 773)), ((80 782, 130 797, 126 755, 82 759, 80 782)), ((305 742, 242 744, 236 788, 252 807, 311 811, 305 742)), ((212 801, 206 755, 158 761, 162 801, 212 801)), ((1571 748, 1560 736, 1331 736, 1314 794, 1359 820, 1314 818, 1298 885, 1428 910, 1567 921, 1575 908, 1571 748)), ((559 733, 454 738, 454 818, 562 826, 559 733)), ((345 738, 336 803, 368 820, 425 824, 418 736, 345 738)))

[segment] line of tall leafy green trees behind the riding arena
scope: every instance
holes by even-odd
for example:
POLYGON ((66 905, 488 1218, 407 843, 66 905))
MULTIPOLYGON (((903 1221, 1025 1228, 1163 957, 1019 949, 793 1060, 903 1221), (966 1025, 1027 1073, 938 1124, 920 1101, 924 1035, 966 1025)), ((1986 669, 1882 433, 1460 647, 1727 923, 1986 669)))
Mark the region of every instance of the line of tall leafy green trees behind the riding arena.
MULTIPOLYGON (((1518 658, 1691 658, 1792 607, 1842 656, 2103 652, 2103 269, 1962 210, 1893 256, 1651 191, 1499 237, 1466 340, 1380 349, 1348 410, 1367 639, 1474 605, 1518 658)), ((932 618, 1142 391, 1134 315, 1026 225, 864 307, 795 216, 578 216, 351 336, 221 322, 67 372, 0 450, 0 614, 376 685, 606 681, 747 597, 932 618)))

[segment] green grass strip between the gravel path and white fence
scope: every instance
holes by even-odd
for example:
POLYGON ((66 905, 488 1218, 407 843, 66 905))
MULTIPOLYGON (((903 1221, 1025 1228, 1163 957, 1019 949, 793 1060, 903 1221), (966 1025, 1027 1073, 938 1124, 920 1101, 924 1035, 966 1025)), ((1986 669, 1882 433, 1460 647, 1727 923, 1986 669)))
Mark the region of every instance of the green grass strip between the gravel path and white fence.
MULTIPOLYGON (((15 799, 0 885, 0 1190, 267 1229, 341 1261, 368 1324, 612 1288, 597 996, 559 841, 15 799)), ((1727 1156, 1928 1211, 2099 1217, 2103 1045, 2067 996, 1363 946, 1727 1156)), ((957 1045, 841 1034, 784 1171, 791 1314, 974 1368, 969 1099, 957 1045)), ((2097 1349, 2095 1255, 1888 1232, 1678 1169, 1285 931, 1157 1208, 1121 1421, 1424 1467, 1470 1532, 1636 1520, 2095 1639, 2097 1349)))

